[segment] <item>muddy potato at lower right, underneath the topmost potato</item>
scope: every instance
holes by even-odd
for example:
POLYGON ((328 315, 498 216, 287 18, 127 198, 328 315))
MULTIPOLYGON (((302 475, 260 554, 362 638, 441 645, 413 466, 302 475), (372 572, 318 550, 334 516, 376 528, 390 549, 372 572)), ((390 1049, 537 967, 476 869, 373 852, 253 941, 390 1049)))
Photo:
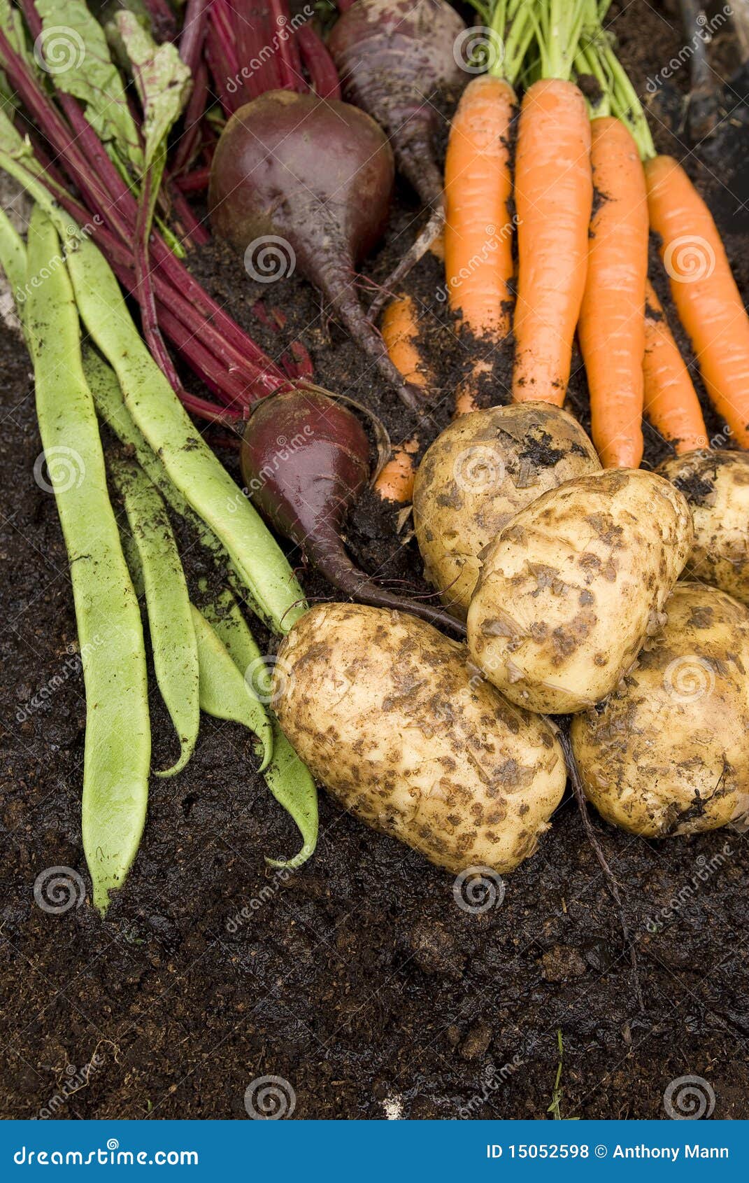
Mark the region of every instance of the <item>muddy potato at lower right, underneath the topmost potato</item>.
POLYGON ((587 797, 645 838, 715 829, 749 806, 749 612, 677 583, 666 613, 621 686, 572 720, 587 797))

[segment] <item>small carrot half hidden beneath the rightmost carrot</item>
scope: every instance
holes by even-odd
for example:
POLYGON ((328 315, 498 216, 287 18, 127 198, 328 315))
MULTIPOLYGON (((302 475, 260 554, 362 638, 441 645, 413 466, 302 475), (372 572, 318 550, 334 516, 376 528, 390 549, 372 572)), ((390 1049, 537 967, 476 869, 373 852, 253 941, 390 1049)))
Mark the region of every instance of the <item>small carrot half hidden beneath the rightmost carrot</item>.
POLYGON ((677 455, 708 446, 689 370, 650 280, 645 290, 645 414, 677 455))

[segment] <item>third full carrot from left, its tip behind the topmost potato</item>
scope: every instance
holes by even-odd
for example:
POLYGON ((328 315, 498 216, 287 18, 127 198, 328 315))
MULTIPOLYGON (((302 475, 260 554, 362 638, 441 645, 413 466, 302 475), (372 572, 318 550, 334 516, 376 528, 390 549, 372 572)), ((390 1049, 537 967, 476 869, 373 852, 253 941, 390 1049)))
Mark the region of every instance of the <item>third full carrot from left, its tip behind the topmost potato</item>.
POLYGON ((637 146, 620 119, 591 123, 593 185, 588 270, 578 336, 591 393, 593 442, 605 468, 643 459, 647 195, 637 146))

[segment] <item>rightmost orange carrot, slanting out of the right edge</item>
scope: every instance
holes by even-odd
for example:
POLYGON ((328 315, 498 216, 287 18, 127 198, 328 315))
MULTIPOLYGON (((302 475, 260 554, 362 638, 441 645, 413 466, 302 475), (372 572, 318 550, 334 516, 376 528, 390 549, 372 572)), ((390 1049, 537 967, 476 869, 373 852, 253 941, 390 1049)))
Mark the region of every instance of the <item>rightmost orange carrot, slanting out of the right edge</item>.
POLYGON ((710 401, 749 447, 749 317, 712 215, 680 164, 645 162, 650 224, 710 401))

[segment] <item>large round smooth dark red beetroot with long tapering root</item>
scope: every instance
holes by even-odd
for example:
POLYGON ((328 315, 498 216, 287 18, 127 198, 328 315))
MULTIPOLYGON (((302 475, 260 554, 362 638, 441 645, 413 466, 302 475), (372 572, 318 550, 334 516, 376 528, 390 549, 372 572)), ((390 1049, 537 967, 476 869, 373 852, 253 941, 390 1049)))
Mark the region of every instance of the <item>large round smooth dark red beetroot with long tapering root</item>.
POLYGON ((216 233, 242 252, 285 239, 383 377, 417 407, 418 393, 390 361, 356 289, 354 264, 383 232, 392 183, 392 153, 369 115, 339 99, 272 90, 223 129, 209 209, 216 233))

